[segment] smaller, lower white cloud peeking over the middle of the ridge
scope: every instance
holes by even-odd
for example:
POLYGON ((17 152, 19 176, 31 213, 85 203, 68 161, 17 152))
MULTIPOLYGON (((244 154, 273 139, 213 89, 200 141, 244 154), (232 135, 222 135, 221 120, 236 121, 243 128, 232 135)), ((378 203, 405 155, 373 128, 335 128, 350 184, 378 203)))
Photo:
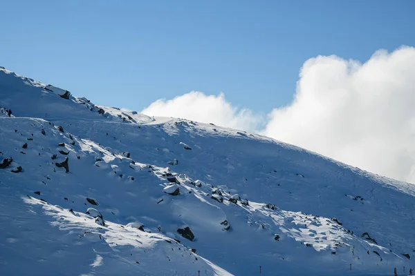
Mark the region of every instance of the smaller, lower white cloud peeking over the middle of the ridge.
POLYGON ((246 108, 237 108, 225 100, 223 93, 218 96, 192 91, 174 99, 159 99, 151 103, 142 113, 149 116, 176 117, 201 123, 241 130, 257 130, 261 116, 254 115, 246 108))

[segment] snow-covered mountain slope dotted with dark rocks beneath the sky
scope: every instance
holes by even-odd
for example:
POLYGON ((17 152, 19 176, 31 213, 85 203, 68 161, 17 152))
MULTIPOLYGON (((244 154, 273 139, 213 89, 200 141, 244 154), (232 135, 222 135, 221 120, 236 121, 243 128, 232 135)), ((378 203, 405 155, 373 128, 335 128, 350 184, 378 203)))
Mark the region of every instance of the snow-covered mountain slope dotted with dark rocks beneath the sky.
POLYGON ((412 184, 259 135, 95 106, 1 69, 0 107, 1 275, 415 266, 412 184))

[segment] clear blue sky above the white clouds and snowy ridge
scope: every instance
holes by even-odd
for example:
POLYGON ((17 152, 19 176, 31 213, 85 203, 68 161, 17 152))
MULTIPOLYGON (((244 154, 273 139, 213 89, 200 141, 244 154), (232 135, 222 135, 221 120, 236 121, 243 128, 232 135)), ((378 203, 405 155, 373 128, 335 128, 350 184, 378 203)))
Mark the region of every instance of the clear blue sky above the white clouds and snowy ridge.
POLYGON ((0 66, 107 106, 199 90, 268 112, 310 57, 414 46, 414 13, 402 0, 2 1, 0 66))

